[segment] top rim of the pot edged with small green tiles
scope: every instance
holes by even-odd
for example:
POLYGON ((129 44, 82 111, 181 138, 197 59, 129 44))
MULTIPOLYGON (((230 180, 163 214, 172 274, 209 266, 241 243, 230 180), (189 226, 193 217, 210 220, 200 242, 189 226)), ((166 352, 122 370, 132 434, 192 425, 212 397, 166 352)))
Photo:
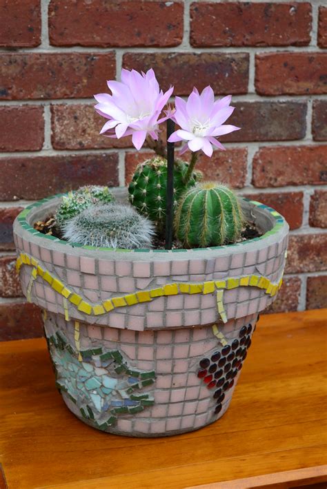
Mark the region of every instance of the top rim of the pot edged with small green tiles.
MULTIPOLYGON (((119 197, 123 195, 123 192, 126 190, 126 187, 112 187, 110 189, 114 192, 114 194, 118 194, 119 197)), ((270 229, 264 232, 261 236, 257 238, 251 238, 249 240, 245 240, 242 242, 233 243, 230 245, 222 245, 217 247, 206 247, 206 248, 192 248, 192 249, 114 249, 114 248, 103 248, 103 247, 92 247, 88 245, 80 245, 79 243, 69 243, 66 240, 61 240, 54 236, 46 235, 37 231, 32 227, 33 220, 37 219, 37 215, 41 211, 46 211, 48 209, 53 209, 57 203, 59 203, 60 198, 66 196, 68 193, 56 194, 54 196, 46 197, 41 200, 37 200, 32 204, 28 205, 14 220, 14 231, 20 232, 19 234, 24 235, 24 238, 28 240, 28 238, 32 238, 33 242, 43 247, 47 247, 50 249, 59 249, 60 251, 65 251, 67 253, 74 254, 92 254, 92 256, 96 253, 99 253, 103 258, 112 258, 112 255, 115 255, 115 258, 119 256, 123 256, 123 259, 128 258, 128 253, 131 253, 131 258, 135 259, 151 259, 151 258, 172 258, 172 253, 174 258, 197 258, 197 253, 202 252, 207 255, 212 255, 213 253, 217 256, 217 253, 223 254, 227 253, 238 253, 247 251, 248 247, 252 247, 255 245, 256 248, 261 247, 262 245, 266 246, 268 241, 272 240, 276 241, 276 238, 279 236, 285 236, 288 232, 288 223, 285 218, 279 214, 279 212, 275 211, 272 207, 268 207, 267 205, 262 204, 261 202, 257 202, 256 200, 249 200, 246 197, 240 197, 241 206, 247 209, 248 213, 257 220, 258 216, 263 216, 266 220, 270 222, 270 229), (210 253, 211 252, 211 253, 210 253), (137 255, 135 255, 137 253, 137 255), (187 256, 186 256, 187 255, 187 256), (192 255, 192 257, 191 257, 192 255)), ((200 257, 199 257, 200 258, 200 257)))

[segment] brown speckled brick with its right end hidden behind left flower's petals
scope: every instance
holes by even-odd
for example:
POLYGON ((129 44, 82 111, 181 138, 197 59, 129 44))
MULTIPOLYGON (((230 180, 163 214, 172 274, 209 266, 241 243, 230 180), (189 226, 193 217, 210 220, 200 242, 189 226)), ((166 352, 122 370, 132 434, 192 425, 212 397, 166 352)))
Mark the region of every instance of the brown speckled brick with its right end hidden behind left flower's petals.
POLYGON ((91 104, 51 105, 51 142, 54 149, 131 147, 130 136, 120 139, 99 134, 106 119, 91 104))

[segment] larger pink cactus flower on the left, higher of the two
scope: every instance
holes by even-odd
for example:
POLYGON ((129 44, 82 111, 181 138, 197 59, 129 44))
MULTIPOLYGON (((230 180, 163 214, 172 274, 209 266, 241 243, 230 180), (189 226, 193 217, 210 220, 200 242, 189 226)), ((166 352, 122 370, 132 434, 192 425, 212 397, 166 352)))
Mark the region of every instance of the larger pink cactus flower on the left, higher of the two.
POLYGON ((121 70, 120 81, 108 81, 110 94, 97 94, 95 110, 108 121, 100 134, 111 138, 132 135, 132 143, 141 149, 146 136, 158 139, 158 125, 170 117, 170 113, 159 118, 164 105, 172 94, 173 87, 166 93, 159 89, 155 72, 144 74, 132 70, 121 70))

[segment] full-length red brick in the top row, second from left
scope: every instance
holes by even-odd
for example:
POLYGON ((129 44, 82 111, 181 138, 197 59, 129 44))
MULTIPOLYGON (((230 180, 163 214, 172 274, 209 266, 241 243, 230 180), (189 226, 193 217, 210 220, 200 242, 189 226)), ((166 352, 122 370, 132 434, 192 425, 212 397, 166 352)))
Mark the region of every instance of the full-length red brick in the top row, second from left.
POLYGON ((183 39, 181 1, 52 0, 50 43, 57 46, 177 46, 183 39))

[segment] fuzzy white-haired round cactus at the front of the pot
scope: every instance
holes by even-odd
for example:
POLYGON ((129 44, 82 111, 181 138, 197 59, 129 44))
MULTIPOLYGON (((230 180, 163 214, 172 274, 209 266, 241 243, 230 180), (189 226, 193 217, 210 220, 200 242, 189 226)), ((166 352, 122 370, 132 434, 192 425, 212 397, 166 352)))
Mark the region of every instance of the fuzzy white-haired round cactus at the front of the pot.
POLYGON ((150 248, 153 225, 130 205, 92 205, 63 225, 68 242, 105 248, 150 248))

